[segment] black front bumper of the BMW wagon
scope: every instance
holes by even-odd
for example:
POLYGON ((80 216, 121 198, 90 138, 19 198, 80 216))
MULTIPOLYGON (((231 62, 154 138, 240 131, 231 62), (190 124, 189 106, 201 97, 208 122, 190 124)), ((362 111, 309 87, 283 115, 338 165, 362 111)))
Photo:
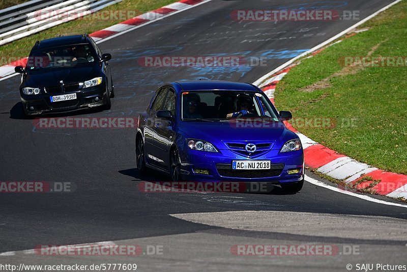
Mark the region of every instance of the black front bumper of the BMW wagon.
POLYGON ((41 115, 44 113, 61 113, 90 108, 106 104, 106 86, 101 84, 92 88, 86 88, 73 92, 24 95, 21 94, 21 102, 26 115, 41 115), (51 102, 54 95, 76 93, 76 99, 59 102, 51 102), (98 101, 96 101, 98 100, 98 101))

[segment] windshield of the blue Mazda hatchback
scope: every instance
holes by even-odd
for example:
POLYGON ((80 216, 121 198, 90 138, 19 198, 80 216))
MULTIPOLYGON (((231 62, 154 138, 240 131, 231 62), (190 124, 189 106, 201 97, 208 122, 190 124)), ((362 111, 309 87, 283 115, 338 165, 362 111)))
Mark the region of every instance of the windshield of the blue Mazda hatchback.
POLYGON ((181 95, 184 121, 225 121, 237 118, 279 120, 277 111, 264 93, 191 91, 181 95))

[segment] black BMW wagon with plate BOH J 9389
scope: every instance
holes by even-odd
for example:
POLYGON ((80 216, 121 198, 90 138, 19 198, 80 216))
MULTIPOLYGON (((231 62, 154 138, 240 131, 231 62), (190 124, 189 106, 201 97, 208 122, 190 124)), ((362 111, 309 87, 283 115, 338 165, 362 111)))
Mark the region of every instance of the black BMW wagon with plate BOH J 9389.
POLYGON ((69 112, 101 106, 114 97, 108 61, 87 34, 37 41, 21 73, 20 96, 25 116, 69 112))

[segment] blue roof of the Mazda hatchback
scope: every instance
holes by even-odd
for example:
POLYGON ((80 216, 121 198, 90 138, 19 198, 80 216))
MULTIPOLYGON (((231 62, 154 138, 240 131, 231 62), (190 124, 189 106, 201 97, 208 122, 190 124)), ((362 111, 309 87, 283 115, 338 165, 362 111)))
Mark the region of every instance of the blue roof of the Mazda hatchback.
POLYGON ((231 81, 216 80, 195 80, 195 81, 177 81, 182 87, 182 91, 200 91, 200 90, 228 90, 228 91, 255 91, 259 90, 249 84, 231 81))

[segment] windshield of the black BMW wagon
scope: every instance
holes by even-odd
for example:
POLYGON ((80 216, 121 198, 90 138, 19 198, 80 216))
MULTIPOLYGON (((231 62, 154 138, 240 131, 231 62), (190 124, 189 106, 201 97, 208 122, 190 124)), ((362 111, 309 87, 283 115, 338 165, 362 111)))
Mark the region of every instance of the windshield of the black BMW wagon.
POLYGON ((31 52, 26 70, 72 68, 93 65, 97 60, 96 52, 89 44, 52 47, 31 52))

